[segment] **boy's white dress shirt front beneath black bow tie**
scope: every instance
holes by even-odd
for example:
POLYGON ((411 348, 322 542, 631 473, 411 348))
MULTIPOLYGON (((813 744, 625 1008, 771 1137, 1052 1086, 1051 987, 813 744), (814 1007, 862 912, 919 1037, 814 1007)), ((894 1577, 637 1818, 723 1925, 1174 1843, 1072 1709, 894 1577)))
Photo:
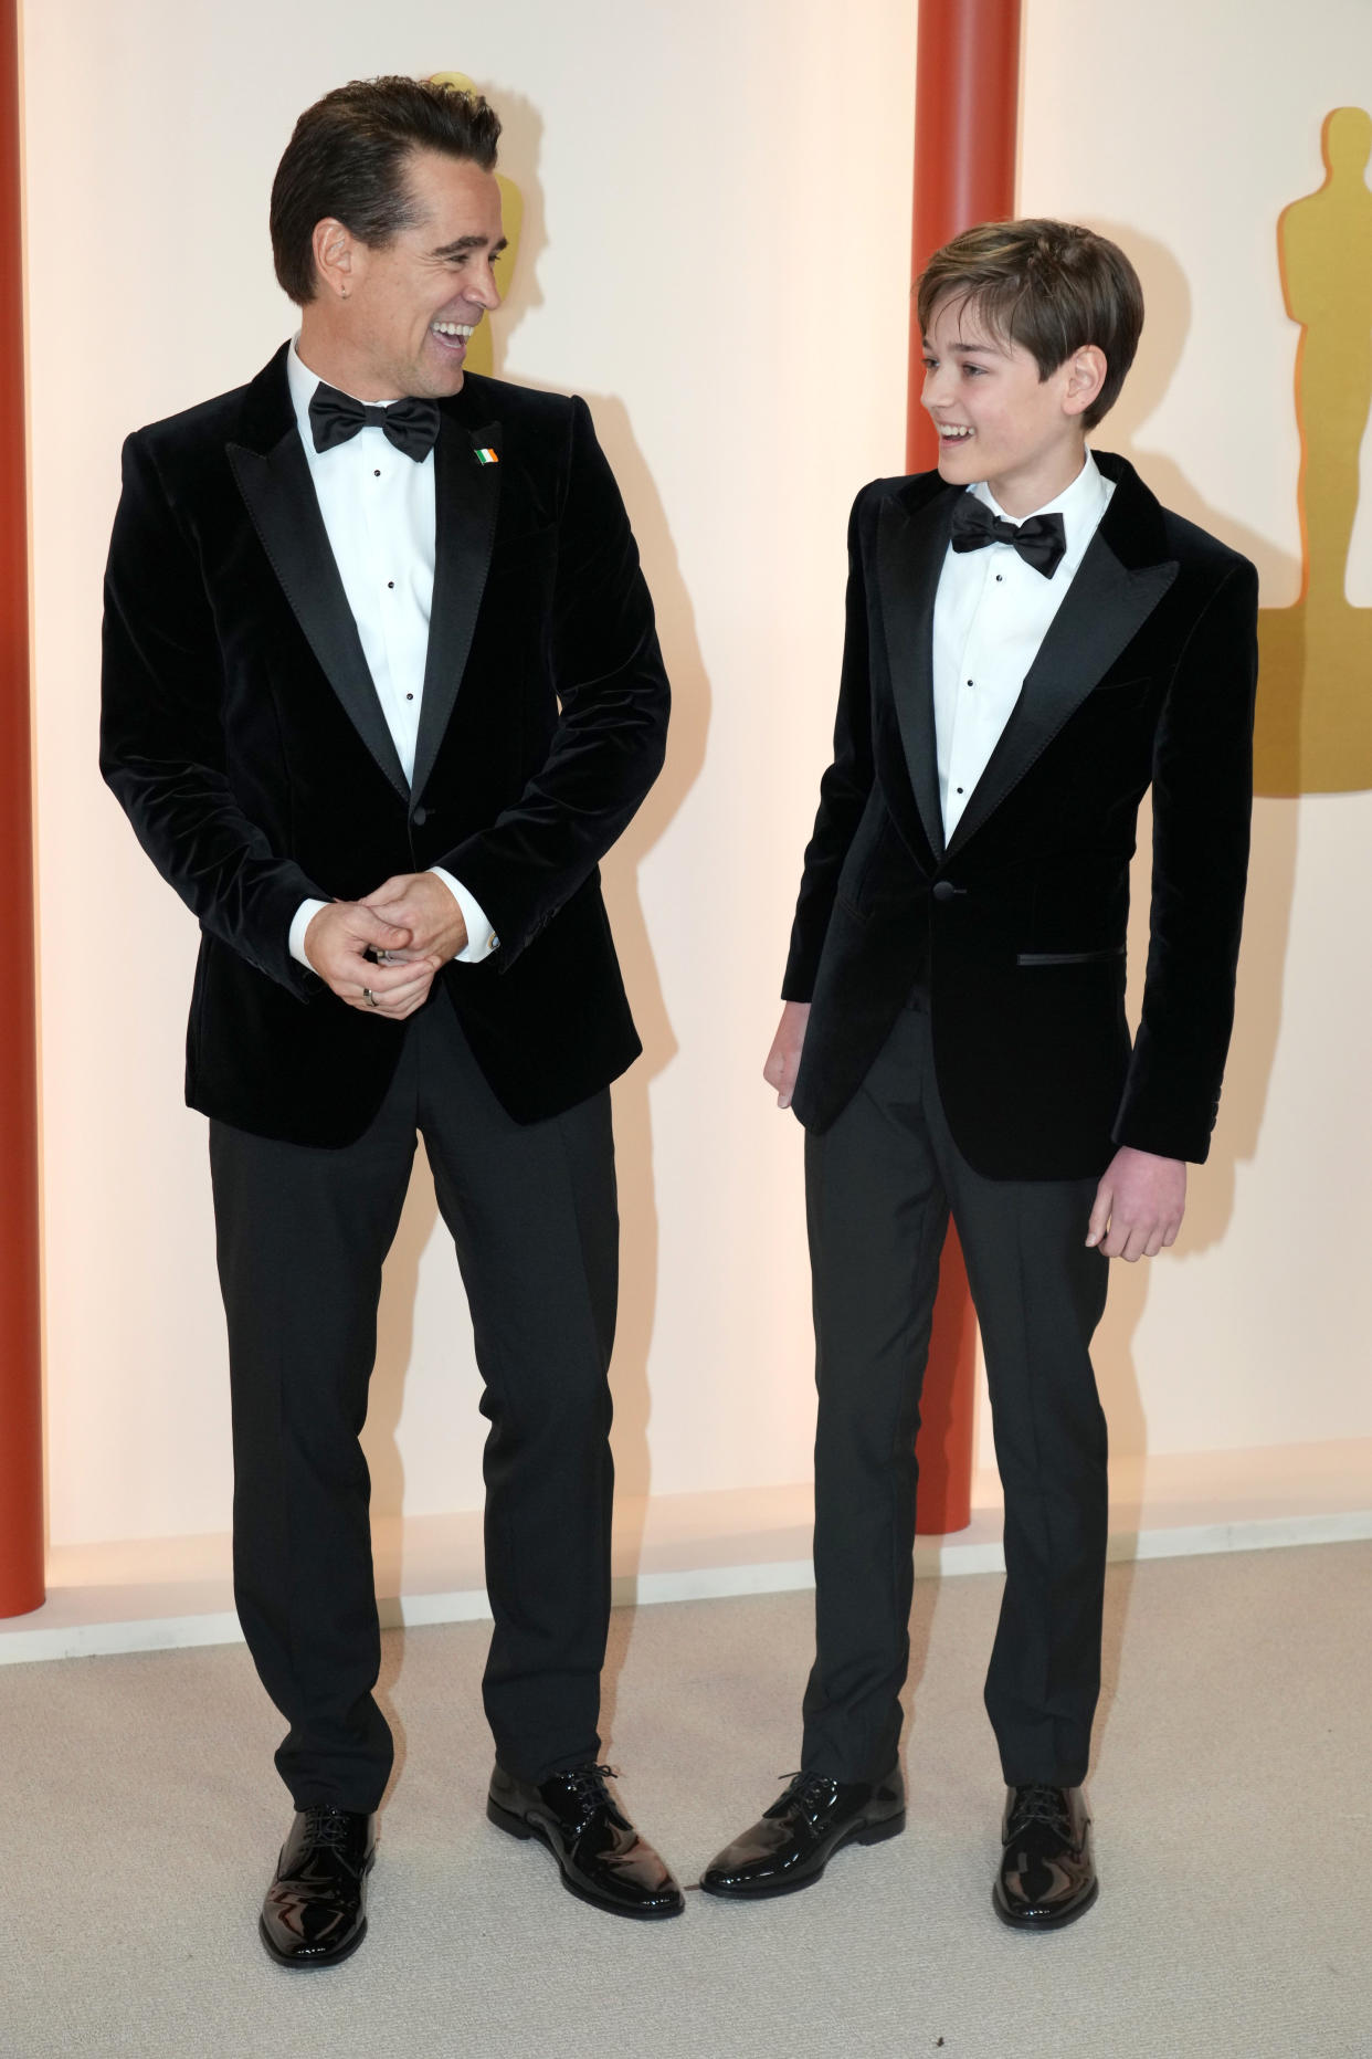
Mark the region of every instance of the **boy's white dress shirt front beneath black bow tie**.
MULTIPOLYGON (((1000 515, 1002 521, 1014 519, 996 504, 985 482, 967 490, 983 500, 991 515, 1000 515)), ((1076 579, 1113 492, 1113 480, 1100 474, 1088 451, 1072 486, 1035 509, 1035 515, 1063 519, 1068 548, 1051 579, 1026 564, 1014 544, 985 544, 967 552, 948 546, 934 599, 934 735, 944 838, 956 830, 1000 743, 1024 675, 1076 579)))

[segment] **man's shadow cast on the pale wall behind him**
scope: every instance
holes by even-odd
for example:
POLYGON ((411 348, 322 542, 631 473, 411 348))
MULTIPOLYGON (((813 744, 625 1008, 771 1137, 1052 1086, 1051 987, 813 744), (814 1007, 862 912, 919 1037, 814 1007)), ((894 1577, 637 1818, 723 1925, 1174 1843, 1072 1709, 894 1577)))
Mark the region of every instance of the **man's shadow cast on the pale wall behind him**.
MULTIPOLYGON (((453 76, 453 74, 442 74, 453 76)), ((492 327, 492 369, 500 377, 508 340, 525 311, 541 305, 537 261, 547 245, 543 189, 537 177, 543 124, 537 111, 504 86, 479 86, 500 107, 502 167, 522 198, 518 266, 508 280, 504 307, 492 327)), ((479 334, 479 331, 477 331, 479 334)), ((522 381, 537 385, 539 381, 522 381)), ((613 395, 582 393, 601 445, 623 492, 638 537, 644 574, 658 616, 658 634, 673 684, 673 723, 666 766, 627 832, 603 867, 605 904, 619 962, 623 966, 634 1019, 644 1056, 615 1083, 615 1155, 619 1170, 619 1330, 611 1384, 615 1392, 615 1470, 621 1497, 646 1497, 648 1458, 648 1353, 656 1316, 658 1213, 652 1167, 650 1085, 677 1052, 666 1015, 648 927, 638 892, 638 869, 658 842, 685 795, 695 784, 706 756, 710 725, 710 682, 695 636, 695 616, 662 500, 648 463, 634 441, 627 410, 613 395)), ((438 1223, 432 1178, 424 1155, 416 1161, 405 1213, 385 1268, 376 1369, 364 1447, 372 1470, 372 1511, 399 1515, 405 1474, 397 1427, 403 1408, 405 1371, 413 1351, 413 1303, 420 1258, 438 1223)), ((453 1260, 455 1262, 455 1260, 453 1260)), ((473 1410, 471 1431, 479 1433, 473 1410)))

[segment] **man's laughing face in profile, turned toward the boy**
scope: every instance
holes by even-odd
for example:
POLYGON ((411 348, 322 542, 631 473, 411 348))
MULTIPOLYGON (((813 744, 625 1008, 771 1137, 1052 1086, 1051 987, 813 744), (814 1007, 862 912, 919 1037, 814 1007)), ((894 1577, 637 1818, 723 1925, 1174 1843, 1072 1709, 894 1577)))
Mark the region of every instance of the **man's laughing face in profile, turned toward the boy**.
POLYGON ((317 301, 348 358, 333 383, 358 399, 457 393, 467 338, 500 307, 492 274, 504 249, 496 175, 471 159, 416 150, 405 185, 416 218, 385 247, 360 243, 341 224, 321 237, 321 266, 337 261, 339 290, 331 294, 331 278, 321 280, 317 301))

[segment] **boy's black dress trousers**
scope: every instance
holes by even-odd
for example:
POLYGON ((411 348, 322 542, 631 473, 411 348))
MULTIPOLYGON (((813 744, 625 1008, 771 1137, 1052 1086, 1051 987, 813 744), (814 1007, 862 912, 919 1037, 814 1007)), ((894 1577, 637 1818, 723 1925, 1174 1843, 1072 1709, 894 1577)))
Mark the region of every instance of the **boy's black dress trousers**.
POLYGON ((1094 1194, 1096 1180, 973 1172, 944 1120, 919 1001, 833 1126, 806 1137, 819 1380, 806 1771, 874 1781, 895 1765, 919 1388, 952 1211, 1006 1491, 1006 1590, 985 1705, 1010 1785, 1084 1779, 1107 1544, 1090 1338, 1109 1260, 1084 1242, 1094 1194))

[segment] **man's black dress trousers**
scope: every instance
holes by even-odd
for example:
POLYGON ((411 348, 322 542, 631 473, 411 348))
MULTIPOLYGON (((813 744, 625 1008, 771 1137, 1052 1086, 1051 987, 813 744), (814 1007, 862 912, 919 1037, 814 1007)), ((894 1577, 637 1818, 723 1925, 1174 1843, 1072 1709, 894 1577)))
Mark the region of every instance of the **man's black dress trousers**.
POLYGON ((381 1268, 424 1137, 483 1380, 485 1713, 512 1773, 599 1756, 609 1625, 609 1357, 619 1219, 609 1091, 518 1124, 446 990, 403 1027, 376 1120, 337 1151, 210 1124, 234 1443, 234 1596, 290 1723, 296 1808, 374 1810, 391 1732, 360 1447, 381 1268))

